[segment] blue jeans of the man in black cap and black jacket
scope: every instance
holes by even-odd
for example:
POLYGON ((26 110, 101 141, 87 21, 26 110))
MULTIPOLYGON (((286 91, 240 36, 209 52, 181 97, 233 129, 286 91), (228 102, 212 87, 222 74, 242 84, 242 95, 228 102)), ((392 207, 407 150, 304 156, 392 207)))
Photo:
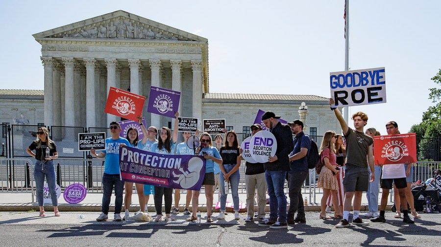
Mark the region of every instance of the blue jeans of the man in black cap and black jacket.
POLYGON ((283 191, 286 172, 265 171, 270 196, 270 222, 286 223, 286 196, 283 191))

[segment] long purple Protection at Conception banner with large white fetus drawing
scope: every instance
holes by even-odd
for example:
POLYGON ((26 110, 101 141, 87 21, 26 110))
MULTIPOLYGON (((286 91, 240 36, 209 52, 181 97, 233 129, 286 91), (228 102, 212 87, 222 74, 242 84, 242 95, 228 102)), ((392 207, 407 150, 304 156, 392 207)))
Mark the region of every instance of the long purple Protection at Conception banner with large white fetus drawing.
POLYGON ((206 159, 194 155, 162 155, 132 147, 120 148, 124 181, 174 189, 200 190, 206 159))

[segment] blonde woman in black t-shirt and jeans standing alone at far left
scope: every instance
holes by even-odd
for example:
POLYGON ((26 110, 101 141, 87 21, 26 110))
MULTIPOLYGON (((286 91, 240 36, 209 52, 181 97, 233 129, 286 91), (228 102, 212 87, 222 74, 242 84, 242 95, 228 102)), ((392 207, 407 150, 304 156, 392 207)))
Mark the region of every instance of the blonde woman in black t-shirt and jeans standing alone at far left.
POLYGON ((40 217, 45 217, 45 208, 43 206, 43 194, 45 177, 48 182, 50 199, 52 200, 53 212, 55 216, 60 216, 58 211, 58 198, 55 190, 55 167, 53 159, 58 158, 57 146, 49 138, 49 131, 41 127, 37 131, 37 139, 33 141, 26 149, 26 153, 37 159, 34 166, 35 186, 37 187, 37 202, 40 207, 40 217), (32 152, 35 150, 35 154, 32 152))

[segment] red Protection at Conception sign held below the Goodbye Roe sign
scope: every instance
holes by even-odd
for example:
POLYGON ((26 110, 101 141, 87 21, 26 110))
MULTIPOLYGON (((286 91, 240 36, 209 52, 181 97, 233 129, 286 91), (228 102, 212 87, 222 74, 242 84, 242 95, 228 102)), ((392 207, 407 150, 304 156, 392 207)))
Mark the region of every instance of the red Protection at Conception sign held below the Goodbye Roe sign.
POLYGON ((415 133, 374 136, 375 165, 417 162, 417 137, 415 133))

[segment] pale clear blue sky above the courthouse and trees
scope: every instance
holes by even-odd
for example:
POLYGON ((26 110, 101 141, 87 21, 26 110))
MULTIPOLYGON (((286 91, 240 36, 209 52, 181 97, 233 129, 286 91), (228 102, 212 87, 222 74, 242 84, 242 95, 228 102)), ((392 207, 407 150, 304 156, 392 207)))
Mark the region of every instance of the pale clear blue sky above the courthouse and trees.
MULTIPOLYGON (((43 89, 32 34, 124 10, 208 39, 210 92, 329 97, 344 70, 344 0, 7 1, 0 16, 1 89, 43 89)), ((387 103, 351 107, 385 134, 421 121, 441 68, 441 1, 350 1, 350 69, 386 68, 387 103)), ((293 106, 296 111, 298 106, 293 106)), ((268 109, 270 110, 270 109, 268 109)), ((350 124, 352 126, 352 124, 350 124)))

